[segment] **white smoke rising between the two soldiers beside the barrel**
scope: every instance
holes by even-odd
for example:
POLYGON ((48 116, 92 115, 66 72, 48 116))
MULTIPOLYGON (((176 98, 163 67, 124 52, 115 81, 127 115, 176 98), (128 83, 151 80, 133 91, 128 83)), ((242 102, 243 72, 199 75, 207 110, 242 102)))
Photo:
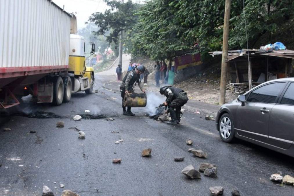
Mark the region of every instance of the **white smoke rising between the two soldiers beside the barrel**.
POLYGON ((156 114, 155 107, 159 106, 166 100, 164 95, 161 95, 159 92, 147 92, 147 105, 145 107, 145 111, 150 115, 153 116, 156 114))

